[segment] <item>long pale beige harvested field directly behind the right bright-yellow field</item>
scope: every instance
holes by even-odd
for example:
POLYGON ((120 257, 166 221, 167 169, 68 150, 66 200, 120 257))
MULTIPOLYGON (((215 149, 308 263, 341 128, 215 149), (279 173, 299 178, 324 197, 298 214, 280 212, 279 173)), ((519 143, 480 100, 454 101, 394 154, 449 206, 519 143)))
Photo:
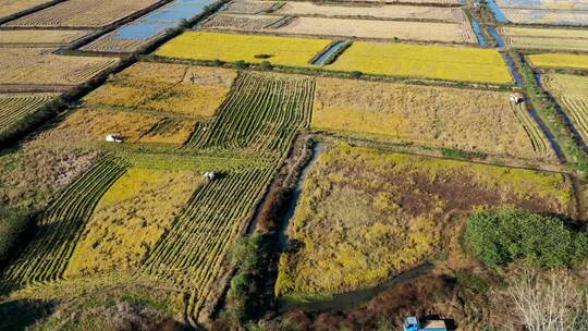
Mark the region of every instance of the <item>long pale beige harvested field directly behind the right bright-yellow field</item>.
POLYGON ((298 35, 343 36, 358 38, 405 39, 419 41, 476 44, 469 24, 397 22, 354 19, 296 17, 291 23, 272 29, 298 35))

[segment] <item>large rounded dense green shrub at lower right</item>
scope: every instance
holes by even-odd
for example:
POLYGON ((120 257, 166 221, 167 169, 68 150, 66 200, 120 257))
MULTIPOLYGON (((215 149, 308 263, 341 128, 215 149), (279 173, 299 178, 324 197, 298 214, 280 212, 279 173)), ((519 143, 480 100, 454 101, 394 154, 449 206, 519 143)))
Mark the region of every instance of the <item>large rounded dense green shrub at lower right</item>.
POLYGON ((585 232, 556 218, 517 208, 483 210, 467 223, 465 244, 486 263, 499 267, 523 259, 535 267, 555 268, 588 255, 585 232))

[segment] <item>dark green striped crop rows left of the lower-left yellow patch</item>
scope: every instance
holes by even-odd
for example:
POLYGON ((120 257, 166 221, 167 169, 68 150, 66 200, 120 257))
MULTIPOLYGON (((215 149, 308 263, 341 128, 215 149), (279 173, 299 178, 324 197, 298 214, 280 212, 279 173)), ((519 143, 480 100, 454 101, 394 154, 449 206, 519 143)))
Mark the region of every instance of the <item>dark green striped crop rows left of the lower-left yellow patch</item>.
POLYGON ((30 283, 60 278, 94 208, 125 169, 118 159, 106 157, 65 188, 39 218, 35 237, 3 279, 30 283))

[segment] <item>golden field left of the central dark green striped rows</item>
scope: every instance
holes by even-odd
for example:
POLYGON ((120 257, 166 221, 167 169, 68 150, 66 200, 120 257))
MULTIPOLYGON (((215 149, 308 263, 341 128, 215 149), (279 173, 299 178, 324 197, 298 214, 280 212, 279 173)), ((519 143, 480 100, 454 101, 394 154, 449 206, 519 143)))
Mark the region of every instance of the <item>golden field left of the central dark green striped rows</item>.
POLYGON ((207 119, 225 100, 235 77, 236 71, 229 69, 138 62, 84 101, 207 119))

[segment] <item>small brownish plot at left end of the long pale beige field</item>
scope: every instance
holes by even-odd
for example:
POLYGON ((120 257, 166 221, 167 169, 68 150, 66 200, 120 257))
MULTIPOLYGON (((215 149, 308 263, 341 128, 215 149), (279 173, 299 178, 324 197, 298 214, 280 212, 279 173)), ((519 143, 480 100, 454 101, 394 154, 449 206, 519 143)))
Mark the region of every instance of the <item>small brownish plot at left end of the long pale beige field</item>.
POLYGON ((264 15, 215 15, 204 22, 203 28, 259 30, 282 20, 282 16, 264 15))

